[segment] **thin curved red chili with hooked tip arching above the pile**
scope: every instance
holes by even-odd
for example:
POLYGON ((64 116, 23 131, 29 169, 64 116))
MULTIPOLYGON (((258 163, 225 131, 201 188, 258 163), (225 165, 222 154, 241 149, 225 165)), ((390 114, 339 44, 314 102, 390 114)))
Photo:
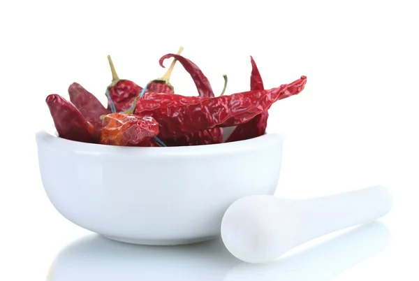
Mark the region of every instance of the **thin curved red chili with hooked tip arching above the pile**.
POLYGON ((185 57, 182 57, 181 55, 175 55, 175 54, 167 54, 161 57, 159 64, 161 67, 164 67, 163 62, 165 59, 168 59, 170 57, 174 57, 177 59, 177 61, 182 64, 184 69, 188 71, 188 73, 191 75, 193 82, 195 82, 196 89, 198 89, 199 96, 204 97, 213 97, 214 92, 212 91, 212 87, 210 84, 210 81, 207 77, 205 77, 203 71, 199 69, 196 64, 191 62, 189 59, 186 59, 185 57))

